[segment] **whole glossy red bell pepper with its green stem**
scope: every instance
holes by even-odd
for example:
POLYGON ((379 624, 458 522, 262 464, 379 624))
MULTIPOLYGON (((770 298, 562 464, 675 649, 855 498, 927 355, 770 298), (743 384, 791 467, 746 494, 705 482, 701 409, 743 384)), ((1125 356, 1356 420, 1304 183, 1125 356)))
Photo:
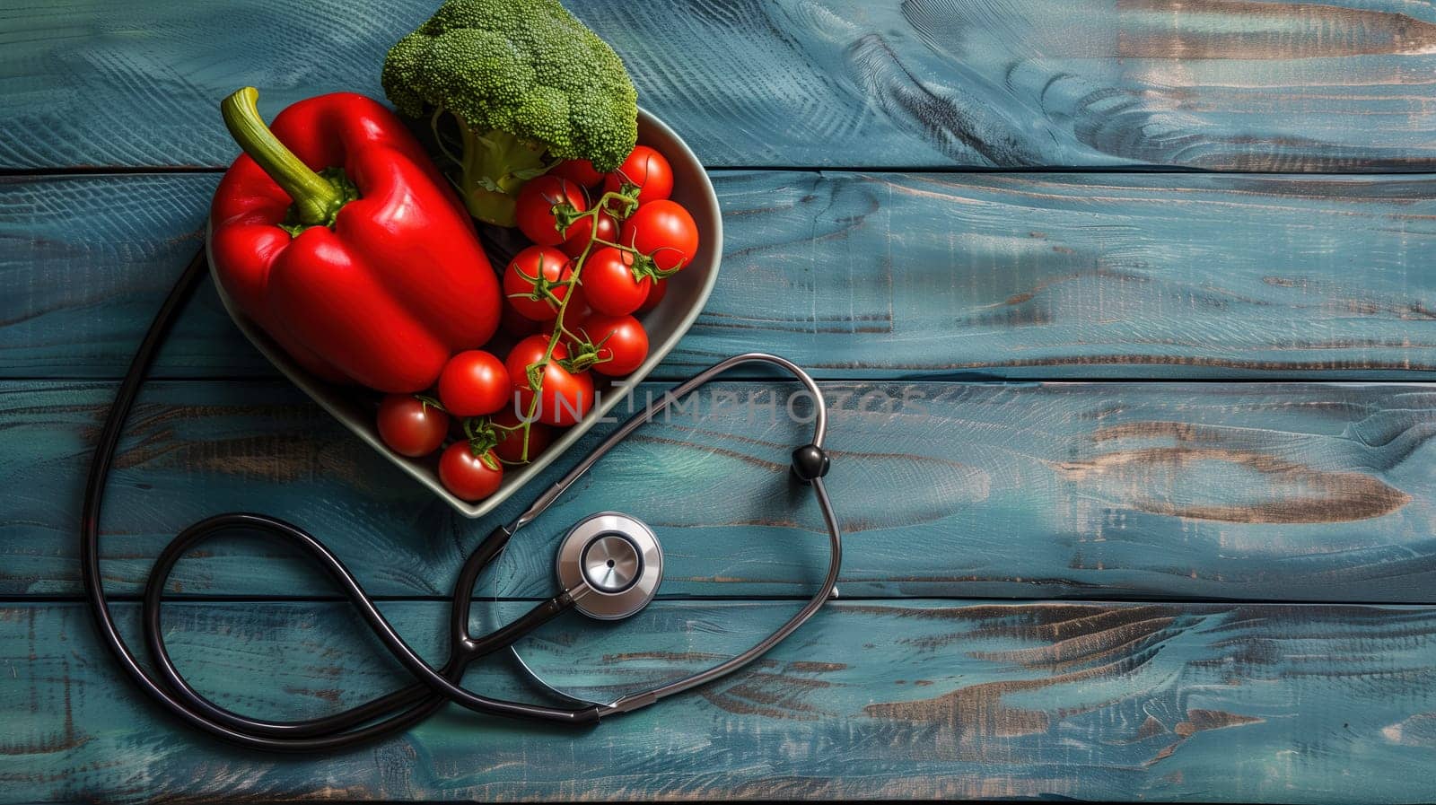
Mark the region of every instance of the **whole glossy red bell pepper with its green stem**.
POLYGON ((501 311, 464 202, 376 100, 310 98, 270 129, 257 98, 244 88, 221 103, 244 149, 210 208, 225 293, 326 380, 432 386, 451 354, 488 342, 501 311))

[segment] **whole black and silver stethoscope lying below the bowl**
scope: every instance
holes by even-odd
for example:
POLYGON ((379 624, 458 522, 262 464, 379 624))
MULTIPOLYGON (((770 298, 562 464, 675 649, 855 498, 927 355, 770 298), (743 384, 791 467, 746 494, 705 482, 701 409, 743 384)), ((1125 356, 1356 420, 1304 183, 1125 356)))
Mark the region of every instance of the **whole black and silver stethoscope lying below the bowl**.
MULTIPOLYGON (((408 729, 451 702, 477 713, 586 725, 605 716, 646 707, 661 699, 691 690, 747 666, 807 623, 824 601, 836 595, 837 574, 843 561, 843 540, 833 514, 833 504, 823 486, 823 476, 827 475, 829 469, 829 458, 823 451, 823 439, 827 435, 823 392, 813 382, 813 377, 797 364, 773 354, 748 353, 721 360, 652 400, 593 448, 577 466, 541 494, 528 509, 507 525, 491 531, 474 548, 460 570, 458 583, 454 587, 449 614, 449 657, 438 669, 429 666, 399 637, 343 561, 330 552, 323 542, 281 519, 261 514, 236 512, 215 515, 185 528, 155 561, 145 584, 142 630, 158 673, 146 670, 121 637, 109 611, 109 601, 105 598, 99 567, 99 514, 105 495, 105 479, 109 475, 121 432, 134 408, 139 386, 144 383, 174 319, 205 271, 207 263, 201 250, 169 291, 135 352, 129 370, 115 393, 115 402, 95 448, 95 458, 90 462, 89 479, 85 486, 80 524, 80 578, 101 639, 131 680, 175 717, 233 743, 271 752, 317 752, 373 740, 408 729), (520 528, 538 518, 629 433, 718 375, 747 363, 777 366, 801 382, 813 396, 813 441, 793 451, 791 475, 797 482, 813 488, 813 495, 823 512, 823 521, 827 524, 830 560, 827 577, 807 604, 747 651, 691 676, 630 693, 613 702, 592 702, 563 693, 543 682, 521 657, 518 659, 520 666, 544 690, 560 697, 566 706, 493 699, 462 687, 460 680, 471 663, 503 649, 513 651, 513 644, 518 639, 533 633, 561 613, 577 610, 595 618, 617 620, 638 613, 653 600, 663 577, 663 554, 653 531, 639 519, 625 514, 600 512, 582 519, 561 540, 556 560, 556 575, 559 587, 561 587, 557 595, 488 634, 474 636, 468 630, 474 585, 478 583, 480 574, 500 557, 520 528), (300 548, 339 585, 385 649, 416 682, 342 713, 296 722, 271 722, 243 716, 215 705, 191 687, 169 659, 169 651, 165 647, 161 598, 169 573, 180 557, 201 541, 233 529, 258 531, 300 548)), ((518 657, 517 651, 514 651, 514 657, 518 657)))

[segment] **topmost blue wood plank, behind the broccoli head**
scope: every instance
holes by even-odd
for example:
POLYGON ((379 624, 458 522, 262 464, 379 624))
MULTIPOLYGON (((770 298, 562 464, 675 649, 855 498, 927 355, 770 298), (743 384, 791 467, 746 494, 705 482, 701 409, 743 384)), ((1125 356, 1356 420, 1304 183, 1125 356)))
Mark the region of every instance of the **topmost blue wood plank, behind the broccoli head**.
MULTIPOLYGON (((215 103, 382 96, 435 0, 0 10, 0 168, 224 165, 215 103)), ((709 165, 1430 169, 1436 10, 1403 0, 569 6, 709 165)))

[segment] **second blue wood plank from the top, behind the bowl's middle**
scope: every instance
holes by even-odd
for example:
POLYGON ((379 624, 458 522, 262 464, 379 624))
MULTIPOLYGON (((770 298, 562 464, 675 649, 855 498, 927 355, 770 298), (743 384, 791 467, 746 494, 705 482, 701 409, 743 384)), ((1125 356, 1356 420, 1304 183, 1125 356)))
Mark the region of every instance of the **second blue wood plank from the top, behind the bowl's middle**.
MULTIPOLYGON (((115 377, 211 175, 0 181, 0 376, 115 377)), ((718 287, 659 369, 827 377, 1430 377, 1436 179, 719 172, 718 287)), ((213 290, 161 376, 273 372, 213 290)))

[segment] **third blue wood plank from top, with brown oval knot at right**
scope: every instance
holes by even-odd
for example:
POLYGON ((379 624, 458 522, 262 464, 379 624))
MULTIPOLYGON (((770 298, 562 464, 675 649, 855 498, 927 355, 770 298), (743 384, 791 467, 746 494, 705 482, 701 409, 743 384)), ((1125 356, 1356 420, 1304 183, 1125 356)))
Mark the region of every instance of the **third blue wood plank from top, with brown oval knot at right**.
MULTIPOLYGON (((1436 603, 1430 386, 826 387, 846 594, 1436 603)), ((563 531, 612 508, 662 535, 666 594, 810 590, 826 540, 787 482, 803 439, 790 389, 722 383, 640 430, 521 534, 482 591, 549 594, 563 531)), ((0 594, 79 591, 80 489, 111 393, 0 386, 0 594)), ((111 484, 109 587, 136 593, 190 522, 258 509, 313 529, 375 594, 447 595, 493 521, 425 495, 286 385, 155 385, 111 484)), ((283 550, 238 540, 174 580, 180 593, 329 591, 283 550)))

